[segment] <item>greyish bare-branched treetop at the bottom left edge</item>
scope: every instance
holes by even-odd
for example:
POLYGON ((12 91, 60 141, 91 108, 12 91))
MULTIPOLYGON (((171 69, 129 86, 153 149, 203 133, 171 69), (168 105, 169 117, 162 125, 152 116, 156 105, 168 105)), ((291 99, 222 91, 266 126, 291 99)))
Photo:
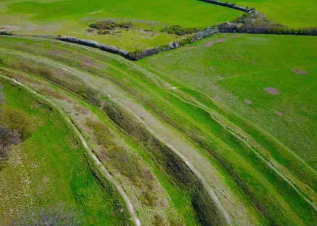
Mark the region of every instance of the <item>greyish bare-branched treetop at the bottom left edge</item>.
POLYGON ((80 226, 81 213, 64 203, 37 207, 19 216, 11 226, 80 226))

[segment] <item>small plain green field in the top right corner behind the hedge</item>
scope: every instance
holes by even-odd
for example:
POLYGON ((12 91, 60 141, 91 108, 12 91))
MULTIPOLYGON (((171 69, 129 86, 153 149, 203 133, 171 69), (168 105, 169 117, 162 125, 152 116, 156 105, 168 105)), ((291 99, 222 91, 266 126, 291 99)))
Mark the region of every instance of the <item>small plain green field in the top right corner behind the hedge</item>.
POLYGON ((232 0, 238 5, 255 7, 266 18, 286 26, 317 27, 316 0, 232 0))

